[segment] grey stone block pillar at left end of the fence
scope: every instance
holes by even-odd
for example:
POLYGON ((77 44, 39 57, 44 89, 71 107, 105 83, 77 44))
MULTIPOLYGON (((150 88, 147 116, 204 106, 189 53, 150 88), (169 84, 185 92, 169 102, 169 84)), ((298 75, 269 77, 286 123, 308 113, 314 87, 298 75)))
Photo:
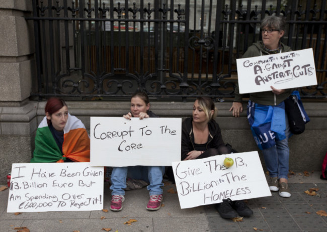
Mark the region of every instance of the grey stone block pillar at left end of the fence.
POLYGON ((28 100, 35 70, 30 16, 31 0, 0 0, 0 183, 12 163, 30 161, 37 127, 37 103, 28 100))

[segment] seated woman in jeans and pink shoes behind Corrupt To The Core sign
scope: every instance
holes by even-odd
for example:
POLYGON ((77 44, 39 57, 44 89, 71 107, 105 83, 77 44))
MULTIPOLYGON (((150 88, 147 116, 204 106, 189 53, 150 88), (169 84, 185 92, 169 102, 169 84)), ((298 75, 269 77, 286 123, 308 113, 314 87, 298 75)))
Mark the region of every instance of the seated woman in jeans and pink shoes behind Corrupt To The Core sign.
MULTIPOLYGON (((123 115, 127 120, 132 117, 140 120, 146 118, 158 118, 158 116, 149 110, 149 98, 145 92, 136 92, 131 97, 131 111, 123 115)), ((147 203, 146 209, 158 210, 162 201, 162 176, 165 173, 165 167, 161 166, 136 166, 136 167, 113 167, 111 174, 112 199, 110 209, 112 211, 120 211, 125 200, 126 178, 142 179, 149 183, 147 189, 149 190, 150 199, 147 203), (131 170, 132 169, 132 170, 131 170), (138 170, 138 171, 135 171, 138 170), (145 175, 144 175, 145 174, 145 175)))

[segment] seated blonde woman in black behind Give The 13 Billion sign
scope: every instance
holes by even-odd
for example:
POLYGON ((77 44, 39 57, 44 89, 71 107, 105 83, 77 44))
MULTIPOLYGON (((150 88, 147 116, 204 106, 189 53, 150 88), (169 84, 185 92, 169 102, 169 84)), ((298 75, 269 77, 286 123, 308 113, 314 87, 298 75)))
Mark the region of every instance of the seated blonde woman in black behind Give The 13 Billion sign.
MULTIPOLYGON (((230 154, 225 146, 219 125, 214 120, 218 109, 209 97, 198 97, 193 105, 191 118, 182 123, 182 160, 202 159, 210 156, 230 154)), ((216 204, 223 218, 251 216, 253 211, 241 200, 223 199, 216 204)))

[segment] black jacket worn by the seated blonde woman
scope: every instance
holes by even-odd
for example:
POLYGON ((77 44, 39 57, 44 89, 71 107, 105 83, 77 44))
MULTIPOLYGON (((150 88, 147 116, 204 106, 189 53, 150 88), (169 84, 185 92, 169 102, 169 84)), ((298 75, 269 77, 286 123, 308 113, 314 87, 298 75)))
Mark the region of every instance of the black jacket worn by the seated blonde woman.
MULTIPOLYGON (((190 151, 194 151, 194 135, 193 135, 193 126, 192 126, 192 118, 187 118, 182 123, 182 152, 181 152, 181 159, 184 160, 187 157, 187 153, 190 151)), ((219 125, 216 121, 211 120, 208 123, 209 127, 209 138, 206 148, 216 148, 218 149, 219 146, 225 145, 219 125)))

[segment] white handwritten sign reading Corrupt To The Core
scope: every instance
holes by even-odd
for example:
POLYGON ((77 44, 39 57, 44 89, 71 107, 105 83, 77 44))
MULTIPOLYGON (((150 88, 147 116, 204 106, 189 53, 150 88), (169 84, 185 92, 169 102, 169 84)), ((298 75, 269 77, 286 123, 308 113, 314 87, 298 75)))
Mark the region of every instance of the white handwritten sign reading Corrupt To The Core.
POLYGON ((172 166, 181 160, 182 119, 91 117, 92 166, 172 166))

